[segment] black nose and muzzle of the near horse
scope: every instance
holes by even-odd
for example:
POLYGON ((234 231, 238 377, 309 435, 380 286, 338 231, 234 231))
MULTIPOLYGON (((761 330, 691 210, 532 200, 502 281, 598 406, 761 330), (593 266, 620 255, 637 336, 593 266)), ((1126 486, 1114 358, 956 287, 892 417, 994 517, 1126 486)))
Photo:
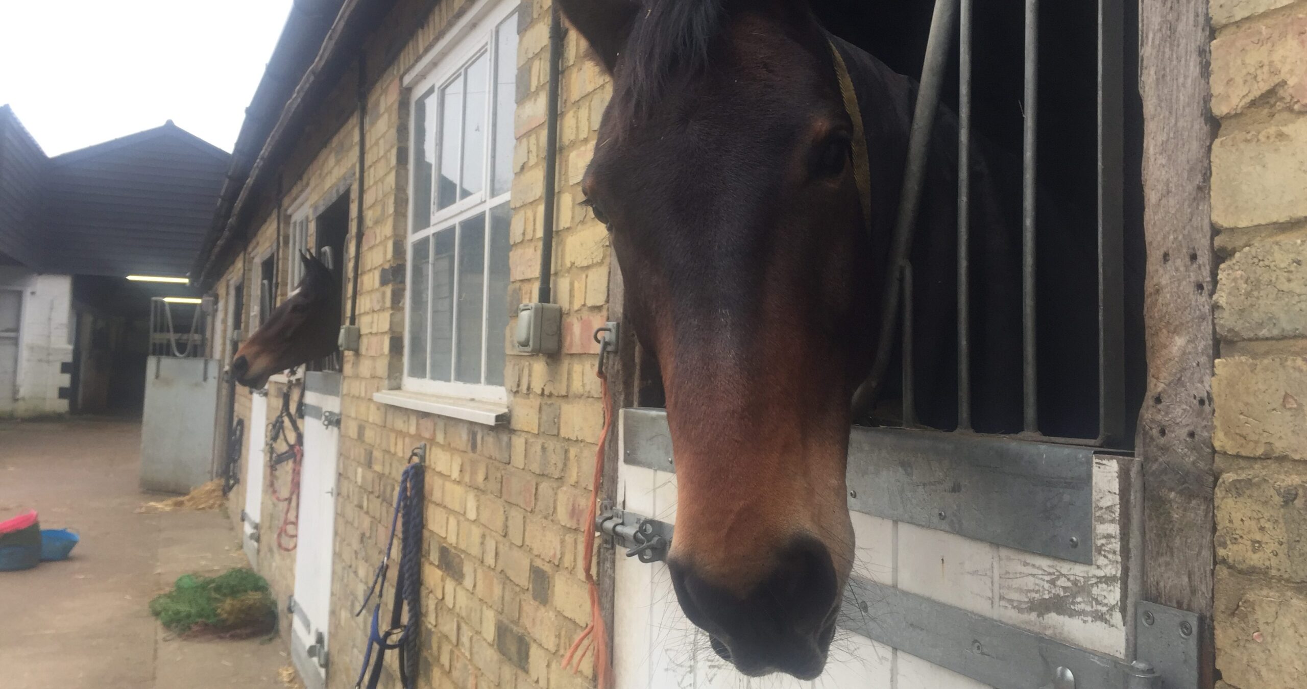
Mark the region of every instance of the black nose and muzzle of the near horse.
POLYGON ((693 563, 669 563, 686 617, 708 633, 712 648, 749 676, 821 675, 835 631, 839 583, 830 552, 813 537, 796 539, 771 571, 742 597, 708 583, 693 563))

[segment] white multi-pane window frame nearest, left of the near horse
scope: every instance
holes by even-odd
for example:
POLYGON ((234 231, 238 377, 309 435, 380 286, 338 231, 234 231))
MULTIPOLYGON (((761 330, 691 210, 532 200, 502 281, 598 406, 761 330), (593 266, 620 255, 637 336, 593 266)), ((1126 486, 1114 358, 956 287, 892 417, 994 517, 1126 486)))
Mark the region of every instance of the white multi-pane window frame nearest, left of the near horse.
MULTIPOLYGON (((425 55, 413 69, 403 80, 405 86, 412 88, 412 98, 409 99, 409 140, 413 141, 413 132, 417 124, 416 111, 418 101, 427 90, 434 89, 435 93, 446 86, 456 75, 460 75, 464 68, 472 64, 473 60, 480 58, 484 52, 490 55, 486 69, 490 73, 490 80, 494 80, 498 64, 494 55, 494 41, 495 29, 503 24, 508 17, 520 10, 520 3, 518 0, 480 0, 476 5, 464 14, 464 18, 454 26, 444 38, 442 38, 431 48, 427 55, 425 55)), ((516 31, 516 27, 512 29, 516 31)), ((514 56, 514 63, 516 63, 516 56, 514 56)), ((514 64, 516 69, 516 64, 514 64)), ((484 278, 489 278, 490 275, 490 237, 491 237, 491 224, 490 224, 490 209, 498 207, 499 204, 508 203, 511 197, 511 191, 505 191, 497 196, 490 196, 493 191, 493 174, 494 174, 494 160, 493 160, 493 146, 494 146, 494 131, 493 131, 493 118, 491 112, 494 109, 494 93, 486 94, 486 114, 485 122, 490 124, 485 133, 484 143, 484 184, 481 191, 469 195, 467 199, 460 199, 451 205, 442 208, 439 210, 431 209, 430 221, 426 227, 416 229, 413 227, 414 221, 414 208, 420 203, 416 190, 416 166, 409 166, 409 218, 408 218, 408 234, 405 237, 405 260, 408 269, 412 275, 413 267, 413 244, 422 241, 423 238, 431 238, 434 242, 434 235, 438 230, 446 230, 451 227, 457 227, 460 222, 478 214, 486 216, 485 225, 485 242, 486 251, 484 252, 485 267, 482 271, 484 278)), ((437 115, 435 118, 439 118, 437 115)), ((433 118, 434 119, 434 118, 433 118)), ((439 136, 439 135, 437 135, 439 136)), ((412 144, 416 146, 421 145, 418 141, 412 144)), ((440 153, 437 152, 437 161, 440 153)), ((463 167, 463 158, 460 154, 459 169, 463 167)), ((431 193, 437 193, 435 175, 431 179, 431 193)), ((461 186, 461 182, 460 182, 461 186)), ((511 184, 510 184, 511 187, 511 184)), ((431 203, 431 199, 426 199, 426 203, 431 203)), ((434 207, 434 204, 433 204, 434 207)), ((457 230, 455 229, 455 233, 457 230)), ((454 264, 455 272, 452 276, 452 282, 457 285, 459 282, 459 243, 460 239, 457 234, 454 250, 454 264)), ((406 281, 412 286, 412 280, 406 281)), ((482 294, 485 294, 485 286, 482 288, 482 294)), ((488 311, 488 298, 482 298, 482 314, 481 314, 481 379, 486 378, 486 360, 485 356, 488 337, 493 333, 486 332, 486 324, 489 322, 488 311)), ((430 305, 429 305, 430 307, 430 305)), ((454 303, 454 312, 451 315, 452 323, 457 327, 457 299, 454 303)), ((430 314, 429 314, 430 315, 430 314)), ((409 371, 409 357, 412 356, 410 348, 408 346, 408 332, 410 329, 412 309, 409 299, 405 299, 404 305, 404 332, 405 332, 405 346, 404 346, 404 377, 401 382, 401 390, 408 392, 418 392, 425 395, 437 395, 442 397, 456 397, 464 400, 476 400, 485 403, 507 403, 508 391, 505 386, 494 386, 486 383, 463 383, 456 380, 431 380, 427 378, 414 378, 408 374, 409 371)), ((501 335, 502 336, 502 335, 501 335)), ((456 343, 456 340, 455 340, 456 343)), ((451 346, 456 348, 456 344, 451 346)), ((430 350, 430 341, 427 341, 427 349, 430 350)), ((423 352, 423 356, 426 352, 423 352)), ((451 357, 451 369, 456 366, 457 357, 451 357)), ((451 378, 454 378, 451 371, 451 378)))

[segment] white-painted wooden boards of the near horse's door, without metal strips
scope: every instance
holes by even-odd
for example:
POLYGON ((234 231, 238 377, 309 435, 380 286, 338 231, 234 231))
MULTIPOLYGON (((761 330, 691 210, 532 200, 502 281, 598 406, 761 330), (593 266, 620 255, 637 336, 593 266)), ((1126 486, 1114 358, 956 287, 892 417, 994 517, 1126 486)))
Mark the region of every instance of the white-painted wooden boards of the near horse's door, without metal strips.
MULTIPOLYGON (((626 424, 617 426, 620 456, 626 456, 626 424)), ((647 437, 647 433, 634 435, 647 437)), ((1129 471, 1131 462, 1095 456, 1093 563, 1033 554, 855 511, 850 513, 856 535, 852 574, 1061 643, 1121 658, 1127 654, 1121 556, 1128 535, 1123 533, 1120 486, 1121 472, 1129 471)), ((622 462, 617 506, 674 523, 676 473, 622 462)), ((987 689, 976 680, 844 629, 843 624, 821 677, 813 681, 788 675, 744 677, 686 620, 664 562, 646 565, 626 557, 621 548, 614 557, 617 689, 987 689)), ((864 614, 873 625, 903 614, 884 601, 864 604, 864 614)))

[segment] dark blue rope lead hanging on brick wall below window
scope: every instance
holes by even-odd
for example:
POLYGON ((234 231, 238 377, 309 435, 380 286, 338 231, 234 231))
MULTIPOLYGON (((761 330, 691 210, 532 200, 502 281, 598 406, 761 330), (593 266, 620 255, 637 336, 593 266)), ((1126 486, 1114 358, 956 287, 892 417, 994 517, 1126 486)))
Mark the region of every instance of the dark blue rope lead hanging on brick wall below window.
POLYGON ((391 536, 386 541, 386 557, 376 567, 376 577, 372 578, 372 586, 367 590, 363 604, 354 613, 356 617, 362 614, 372 595, 376 595, 376 604, 372 607, 372 626, 367 635, 367 651, 363 654, 363 667, 358 671, 354 689, 363 689, 365 679, 367 680, 366 689, 376 689, 382 679, 386 651, 389 650, 396 650, 400 654, 400 684, 404 689, 417 686, 417 637, 422 621, 422 503, 425 496, 422 469, 422 464, 409 464, 400 475, 400 489, 395 496, 395 514, 391 516, 391 536), (403 520, 400 520, 400 515, 403 515, 403 520), (395 579, 391 626, 382 631, 382 599, 386 590, 386 574, 391 565, 396 527, 400 529, 400 569, 395 579), (408 608, 406 620, 403 614, 405 607, 408 608), (376 651, 375 663, 372 663, 374 650, 376 651))

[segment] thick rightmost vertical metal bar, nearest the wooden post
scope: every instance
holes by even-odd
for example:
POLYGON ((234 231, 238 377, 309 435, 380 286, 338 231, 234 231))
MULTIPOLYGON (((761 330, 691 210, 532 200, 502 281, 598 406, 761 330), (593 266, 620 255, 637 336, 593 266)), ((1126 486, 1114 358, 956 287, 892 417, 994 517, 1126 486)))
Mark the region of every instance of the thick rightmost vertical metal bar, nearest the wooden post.
POLYGON ((1098 439, 1125 435, 1124 7, 1098 3, 1098 439))

